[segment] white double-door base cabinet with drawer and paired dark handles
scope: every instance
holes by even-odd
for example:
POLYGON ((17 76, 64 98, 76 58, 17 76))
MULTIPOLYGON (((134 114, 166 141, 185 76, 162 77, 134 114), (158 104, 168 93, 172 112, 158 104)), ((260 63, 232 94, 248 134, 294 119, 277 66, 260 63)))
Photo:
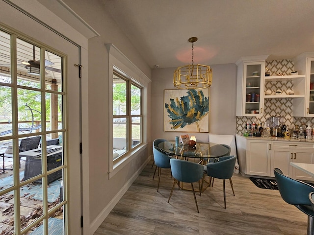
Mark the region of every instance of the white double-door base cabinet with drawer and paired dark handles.
MULTIPOLYGON (((313 143, 272 141, 271 169, 280 168, 283 173, 298 180, 312 180, 312 177, 290 165, 293 163, 314 163, 313 143)), ((271 176, 274 177, 273 170, 271 176)))

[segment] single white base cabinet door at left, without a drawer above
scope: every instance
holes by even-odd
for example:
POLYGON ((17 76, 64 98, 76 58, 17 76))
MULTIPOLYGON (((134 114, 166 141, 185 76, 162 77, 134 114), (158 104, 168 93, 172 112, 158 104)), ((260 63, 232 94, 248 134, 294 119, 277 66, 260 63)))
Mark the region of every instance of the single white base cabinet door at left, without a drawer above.
POLYGON ((270 176, 270 141, 247 141, 246 174, 270 176))

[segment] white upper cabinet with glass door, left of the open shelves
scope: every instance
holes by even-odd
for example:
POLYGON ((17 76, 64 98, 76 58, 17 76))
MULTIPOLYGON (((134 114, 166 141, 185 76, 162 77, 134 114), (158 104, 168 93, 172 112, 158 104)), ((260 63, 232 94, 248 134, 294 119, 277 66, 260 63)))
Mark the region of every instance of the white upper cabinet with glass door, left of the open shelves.
POLYGON ((240 58, 237 64, 236 116, 263 115, 265 59, 268 56, 240 58))

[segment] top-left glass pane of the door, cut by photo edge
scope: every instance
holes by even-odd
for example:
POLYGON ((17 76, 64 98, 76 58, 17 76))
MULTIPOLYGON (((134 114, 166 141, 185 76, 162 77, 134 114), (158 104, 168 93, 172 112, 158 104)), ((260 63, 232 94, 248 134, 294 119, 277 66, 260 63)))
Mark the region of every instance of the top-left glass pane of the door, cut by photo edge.
POLYGON ((0 81, 11 83, 11 46, 10 34, 0 30, 0 81), (2 79, 1 76, 5 79, 2 79))

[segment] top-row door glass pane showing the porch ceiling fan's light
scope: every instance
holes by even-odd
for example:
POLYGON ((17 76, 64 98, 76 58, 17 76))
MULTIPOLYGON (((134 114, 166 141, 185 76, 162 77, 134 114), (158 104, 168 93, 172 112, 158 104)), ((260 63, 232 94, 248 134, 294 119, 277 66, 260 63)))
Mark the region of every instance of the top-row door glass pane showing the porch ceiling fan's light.
POLYGON ((16 40, 18 85, 40 88, 40 48, 24 40, 16 40))

